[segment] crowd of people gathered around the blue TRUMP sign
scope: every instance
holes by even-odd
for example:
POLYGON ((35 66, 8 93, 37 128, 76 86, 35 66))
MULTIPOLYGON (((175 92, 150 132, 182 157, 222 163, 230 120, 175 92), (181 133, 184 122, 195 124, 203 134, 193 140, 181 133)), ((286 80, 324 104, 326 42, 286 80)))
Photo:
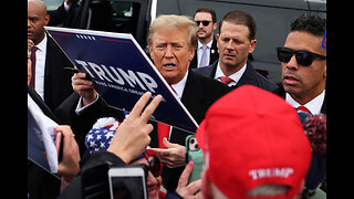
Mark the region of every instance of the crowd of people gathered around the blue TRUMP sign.
POLYGON ((309 119, 299 116, 322 114, 325 121, 325 19, 298 17, 284 45, 270 49, 282 70, 278 85, 250 61, 257 48, 250 13, 230 11, 218 24, 212 9, 200 8, 194 18, 162 14, 152 22, 150 59, 199 124, 205 168, 188 184, 194 163, 186 163, 185 142, 191 133, 149 121, 160 95, 148 103, 152 93, 146 92, 127 116, 105 103, 85 73, 64 70, 72 64, 44 27, 67 7, 70 1, 49 14, 44 2, 28 1, 29 97, 63 135, 61 180, 29 159, 29 198, 83 198, 83 180, 97 178, 87 170, 107 163, 146 165, 149 198, 290 199, 325 191, 325 123, 311 132, 304 125, 309 119))

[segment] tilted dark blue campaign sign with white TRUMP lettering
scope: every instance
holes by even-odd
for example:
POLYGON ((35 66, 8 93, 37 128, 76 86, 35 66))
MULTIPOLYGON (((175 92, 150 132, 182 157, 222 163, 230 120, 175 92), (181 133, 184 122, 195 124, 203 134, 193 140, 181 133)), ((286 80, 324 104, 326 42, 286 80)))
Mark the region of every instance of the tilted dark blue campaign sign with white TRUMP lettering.
POLYGON ((111 106, 131 112, 147 91, 163 101, 158 121, 194 133, 198 124, 173 92, 132 34, 46 27, 71 62, 86 73, 111 106))

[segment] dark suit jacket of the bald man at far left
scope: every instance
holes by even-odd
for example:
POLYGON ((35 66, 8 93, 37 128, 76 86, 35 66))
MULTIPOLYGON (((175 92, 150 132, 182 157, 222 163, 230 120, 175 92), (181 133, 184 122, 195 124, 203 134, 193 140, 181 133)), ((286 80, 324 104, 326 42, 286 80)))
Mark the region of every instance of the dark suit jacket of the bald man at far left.
POLYGON ((71 85, 73 74, 64 70, 64 67, 73 67, 73 64, 60 50, 54 40, 49 35, 46 38, 44 102, 54 111, 73 93, 71 85))

